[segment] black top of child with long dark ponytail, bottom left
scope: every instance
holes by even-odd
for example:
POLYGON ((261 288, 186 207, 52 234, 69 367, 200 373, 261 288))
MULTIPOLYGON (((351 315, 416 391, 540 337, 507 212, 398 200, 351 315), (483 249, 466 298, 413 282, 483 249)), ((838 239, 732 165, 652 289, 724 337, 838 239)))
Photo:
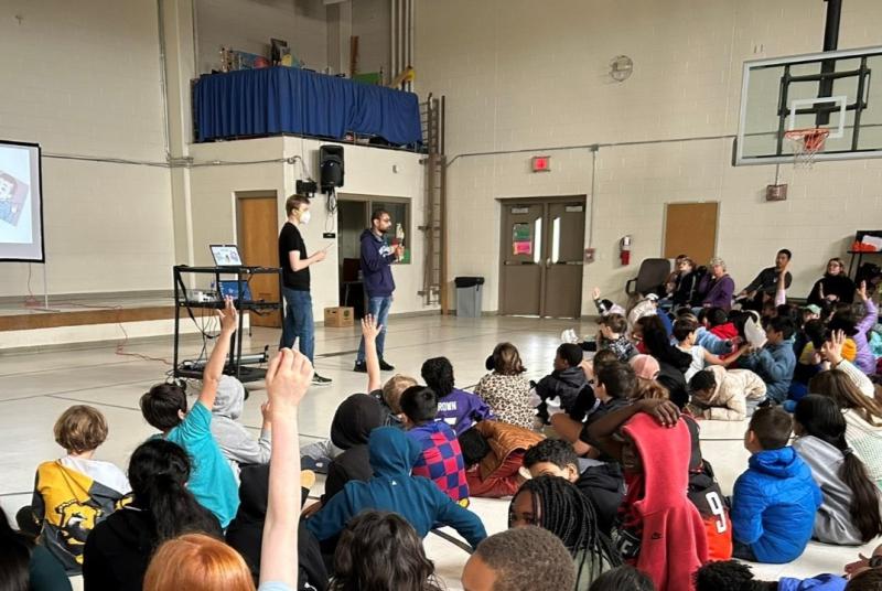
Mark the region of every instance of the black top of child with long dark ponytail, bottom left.
MULTIPOLYGON (((215 524, 216 529, 205 534, 222 538, 220 524, 215 524)), ((141 591, 155 545, 155 526, 149 511, 128 505, 115 512, 86 538, 84 589, 141 591)))

